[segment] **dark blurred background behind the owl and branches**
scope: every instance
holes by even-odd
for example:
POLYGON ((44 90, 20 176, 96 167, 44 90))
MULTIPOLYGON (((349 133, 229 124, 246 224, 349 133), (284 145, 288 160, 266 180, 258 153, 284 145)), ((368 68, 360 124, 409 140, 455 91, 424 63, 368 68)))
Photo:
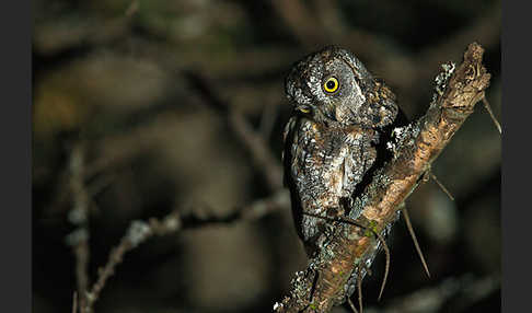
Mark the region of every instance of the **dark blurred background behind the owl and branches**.
MULTIPOLYGON (((501 113, 499 1, 35 1, 33 33, 33 309, 71 310, 74 230, 68 169, 86 151, 90 277, 132 220, 224 216, 271 194, 217 96, 280 160, 290 115, 284 77, 327 44, 352 50, 384 79, 410 118, 431 100, 440 65, 467 44, 486 48, 486 97, 501 113)), ((407 200, 432 277, 404 221, 392 231, 391 274, 377 302, 383 256, 365 280, 365 312, 500 311, 500 135, 477 111, 407 200)), ((153 237, 116 268, 97 312, 270 311, 305 256, 289 208, 255 221, 153 237)), ((335 309, 347 312, 346 308, 335 309)))

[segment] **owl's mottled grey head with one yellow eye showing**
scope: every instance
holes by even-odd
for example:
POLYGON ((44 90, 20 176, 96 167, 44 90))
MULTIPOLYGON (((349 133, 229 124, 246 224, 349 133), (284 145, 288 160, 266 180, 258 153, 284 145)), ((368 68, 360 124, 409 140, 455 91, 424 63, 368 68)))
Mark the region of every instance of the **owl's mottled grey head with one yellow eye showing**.
POLYGON ((348 50, 329 46, 297 62, 286 93, 299 114, 322 124, 382 127, 397 113, 395 96, 348 50))

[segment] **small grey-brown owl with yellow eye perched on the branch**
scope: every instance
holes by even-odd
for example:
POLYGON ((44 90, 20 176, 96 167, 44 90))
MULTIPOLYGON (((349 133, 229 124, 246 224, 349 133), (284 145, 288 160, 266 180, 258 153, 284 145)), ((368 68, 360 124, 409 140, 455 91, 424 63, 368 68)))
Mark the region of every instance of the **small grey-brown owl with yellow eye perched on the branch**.
POLYGON ((285 185, 296 229, 313 256, 332 223, 305 213, 358 217, 350 204, 390 156, 382 142, 400 109, 382 81, 335 46, 297 62, 285 86, 293 105, 284 131, 285 185))

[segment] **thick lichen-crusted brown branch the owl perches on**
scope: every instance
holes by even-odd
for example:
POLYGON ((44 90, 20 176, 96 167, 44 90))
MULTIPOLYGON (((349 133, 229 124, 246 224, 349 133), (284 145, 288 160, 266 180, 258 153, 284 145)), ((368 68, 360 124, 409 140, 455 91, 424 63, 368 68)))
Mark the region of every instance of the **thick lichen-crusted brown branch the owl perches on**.
MULTIPOLYGON (((482 65, 483 53, 478 44, 471 44, 460 67, 454 70, 453 65, 447 66, 444 73, 438 76, 438 93, 426 115, 395 130, 397 142, 393 160, 374 175, 355 201, 352 209, 361 210, 360 224, 372 224, 377 232, 391 224, 400 205, 473 113, 490 79, 482 65)), ((297 274, 290 295, 276 303, 276 312, 328 312, 333 305, 345 301, 345 285, 352 271, 374 252, 378 241, 366 236, 362 228, 344 224, 342 229, 329 239, 329 251, 311 259, 308 269, 297 274)))

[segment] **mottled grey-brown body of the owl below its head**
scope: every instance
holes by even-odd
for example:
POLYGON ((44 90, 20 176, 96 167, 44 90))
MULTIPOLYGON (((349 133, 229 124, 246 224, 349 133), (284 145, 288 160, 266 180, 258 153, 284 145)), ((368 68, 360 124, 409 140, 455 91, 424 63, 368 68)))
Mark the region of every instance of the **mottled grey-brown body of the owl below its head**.
POLYGON ((285 184, 290 188, 298 233, 304 242, 320 233, 323 219, 344 215, 342 201, 373 164, 378 134, 358 126, 325 126, 301 116, 285 128, 285 184))

